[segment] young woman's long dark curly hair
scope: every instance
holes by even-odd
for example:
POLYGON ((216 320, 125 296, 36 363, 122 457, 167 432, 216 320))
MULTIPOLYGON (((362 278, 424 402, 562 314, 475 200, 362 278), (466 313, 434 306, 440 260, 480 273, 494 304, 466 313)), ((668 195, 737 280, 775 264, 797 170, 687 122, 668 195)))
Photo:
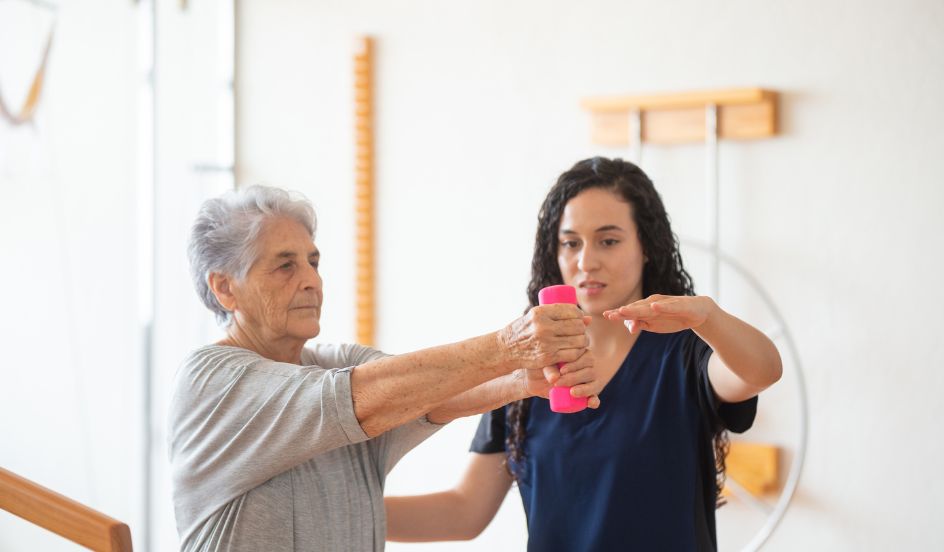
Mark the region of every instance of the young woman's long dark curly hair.
MULTIPOLYGON (((653 294, 695 295, 692 278, 682 264, 678 237, 672 233, 669 216, 652 181, 642 169, 628 161, 593 157, 578 162, 560 175, 538 212, 538 230, 531 258, 531 282, 528 284, 529 308, 538 304, 538 291, 541 288, 564 283, 557 264, 557 234, 561 216, 568 201, 591 188, 609 190, 633 207, 639 242, 648 259, 643 265, 643 297, 653 294)), ((515 479, 518 479, 523 467, 529 405, 530 400, 525 399, 508 406, 511 431, 506 437, 505 448, 508 453, 507 468, 515 479)), ((712 431, 717 473, 715 490, 716 496, 720 497, 729 443, 724 428, 713 428, 712 431)))

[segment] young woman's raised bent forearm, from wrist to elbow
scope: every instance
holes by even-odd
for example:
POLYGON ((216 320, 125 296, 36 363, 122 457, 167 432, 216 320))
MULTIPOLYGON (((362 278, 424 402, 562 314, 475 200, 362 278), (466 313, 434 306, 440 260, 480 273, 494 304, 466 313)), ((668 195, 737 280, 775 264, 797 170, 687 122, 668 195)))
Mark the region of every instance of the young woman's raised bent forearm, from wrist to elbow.
MULTIPOLYGON (((780 379, 783 365, 773 342, 760 330, 720 307, 694 328, 724 367, 756 395, 780 379)), ((712 383, 717 378, 713 378, 712 383)), ((716 389, 717 390, 717 389, 716 389)))

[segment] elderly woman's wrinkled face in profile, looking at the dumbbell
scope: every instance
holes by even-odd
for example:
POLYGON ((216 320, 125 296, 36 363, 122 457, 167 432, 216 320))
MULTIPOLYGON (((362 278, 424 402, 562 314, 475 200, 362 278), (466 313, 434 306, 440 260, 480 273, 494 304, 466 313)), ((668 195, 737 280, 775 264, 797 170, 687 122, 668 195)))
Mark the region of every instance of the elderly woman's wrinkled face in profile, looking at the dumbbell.
POLYGON ((257 238, 259 255, 234 284, 236 315, 269 339, 311 339, 321 331, 319 252, 305 227, 288 218, 268 221, 257 238))

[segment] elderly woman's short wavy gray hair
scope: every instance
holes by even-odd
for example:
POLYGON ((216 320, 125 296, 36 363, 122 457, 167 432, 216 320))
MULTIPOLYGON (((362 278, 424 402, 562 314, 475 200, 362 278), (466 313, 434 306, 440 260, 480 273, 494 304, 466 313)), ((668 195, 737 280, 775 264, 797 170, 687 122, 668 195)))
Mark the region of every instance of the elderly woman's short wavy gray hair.
POLYGON ((197 295, 229 325, 232 313, 223 308, 210 289, 211 272, 245 278, 256 260, 256 238, 266 220, 288 217, 298 221, 315 239, 315 210, 304 196, 269 186, 250 186, 208 199, 193 223, 187 254, 197 295))

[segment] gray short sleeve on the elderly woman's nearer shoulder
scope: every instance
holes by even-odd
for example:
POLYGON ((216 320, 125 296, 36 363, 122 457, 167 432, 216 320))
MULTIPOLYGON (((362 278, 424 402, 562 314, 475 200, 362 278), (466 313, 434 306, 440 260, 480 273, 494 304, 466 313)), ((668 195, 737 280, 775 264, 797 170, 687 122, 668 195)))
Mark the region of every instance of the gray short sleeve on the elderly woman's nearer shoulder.
POLYGON ((221 346, 196 351, 177 373, 168 427, 175 506, 185 519, 205 519, 302 462, 368 438, 354 414, 350 368, 221 346))

